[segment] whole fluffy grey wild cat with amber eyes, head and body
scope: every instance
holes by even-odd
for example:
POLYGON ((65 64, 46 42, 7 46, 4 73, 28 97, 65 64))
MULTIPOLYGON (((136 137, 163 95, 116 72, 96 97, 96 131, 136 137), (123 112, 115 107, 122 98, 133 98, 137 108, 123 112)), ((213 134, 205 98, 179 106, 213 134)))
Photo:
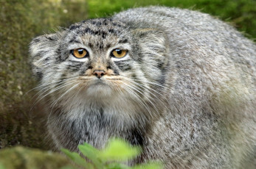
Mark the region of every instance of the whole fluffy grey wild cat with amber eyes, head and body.
POLYGON ((131 165, 166 168, 253 158, 256 46, 210 15, 131 9, 35 37, 30 54, 58 148, 121 137, 142 147, 131 165))

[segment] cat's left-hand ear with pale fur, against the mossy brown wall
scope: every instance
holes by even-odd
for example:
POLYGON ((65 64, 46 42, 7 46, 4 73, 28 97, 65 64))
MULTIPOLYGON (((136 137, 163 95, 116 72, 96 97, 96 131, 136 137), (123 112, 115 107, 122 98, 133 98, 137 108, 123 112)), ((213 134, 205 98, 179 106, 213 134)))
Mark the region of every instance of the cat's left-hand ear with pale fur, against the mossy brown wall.
POLYGON ((58 47, 60 33, 41 35, 35 37, 30 43, 30 63, 32 71, 39 79, 43 76, 43 70, 49 65, 51 58, 58 47))

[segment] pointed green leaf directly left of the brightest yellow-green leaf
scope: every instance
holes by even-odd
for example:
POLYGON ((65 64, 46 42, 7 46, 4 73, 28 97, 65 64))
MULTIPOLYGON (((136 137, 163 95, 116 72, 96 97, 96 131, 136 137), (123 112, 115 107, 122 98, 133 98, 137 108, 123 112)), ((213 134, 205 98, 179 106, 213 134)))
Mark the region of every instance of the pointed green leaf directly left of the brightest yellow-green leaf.
POLYGON ((103 163, 97 157, 99 151, 96 148, 87 143, 84 143, 84 145, 78 145, 78 148, 85 157, 91 160, 91 162, 96 166, 96 168, 104 168, 103 163))

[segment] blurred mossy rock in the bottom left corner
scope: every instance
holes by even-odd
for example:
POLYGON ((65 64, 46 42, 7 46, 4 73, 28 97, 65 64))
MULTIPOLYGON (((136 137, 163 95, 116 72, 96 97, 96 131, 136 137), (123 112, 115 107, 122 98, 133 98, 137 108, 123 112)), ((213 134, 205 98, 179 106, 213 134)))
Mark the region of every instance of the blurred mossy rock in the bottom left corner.
POLYGON ((21 146, 0 151, 0 169, 58 169, 68 165, 69 159, 52 151, 21 146))

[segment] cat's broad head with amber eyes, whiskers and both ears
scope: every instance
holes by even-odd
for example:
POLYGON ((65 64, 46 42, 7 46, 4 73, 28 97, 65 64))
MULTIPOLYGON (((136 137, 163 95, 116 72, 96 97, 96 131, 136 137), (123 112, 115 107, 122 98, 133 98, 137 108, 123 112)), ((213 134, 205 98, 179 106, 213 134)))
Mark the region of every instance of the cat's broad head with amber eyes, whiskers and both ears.
POLYGON ((133 29, 106 18, 82 21, 35 37, 30 54, 42 96, 55 101, 149 100, 165 85, 167 43, 157 29, 133 29))

